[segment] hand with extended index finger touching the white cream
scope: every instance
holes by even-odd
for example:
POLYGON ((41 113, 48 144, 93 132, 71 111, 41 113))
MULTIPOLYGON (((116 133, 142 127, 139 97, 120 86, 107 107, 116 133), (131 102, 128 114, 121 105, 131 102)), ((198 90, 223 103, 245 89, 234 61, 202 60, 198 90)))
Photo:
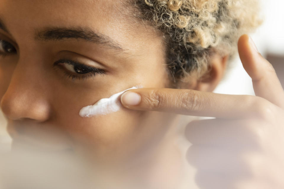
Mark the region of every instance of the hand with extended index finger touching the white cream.
POLYGON ((125 92, 121 101, 133 110, 216 118, 193 121, 185 132, 200 188, 284 188, 284 91, 247 35, 238 50, 256 96, 144 88, 125 92))

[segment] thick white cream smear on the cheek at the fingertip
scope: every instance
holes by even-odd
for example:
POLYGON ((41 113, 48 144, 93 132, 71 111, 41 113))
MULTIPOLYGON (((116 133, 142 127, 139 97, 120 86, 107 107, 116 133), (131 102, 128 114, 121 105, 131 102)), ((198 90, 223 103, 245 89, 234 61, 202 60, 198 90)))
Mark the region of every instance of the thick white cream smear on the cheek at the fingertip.
POLYGON ((79 115, 81 117, 89 118, 94 115, 106 115, 112 112, 117 112, 122 107, 122 104, 120 102, 120 95, 130 89, 138 89, 138 87, 131 87, 122 92, 113 94, 109 98, 102 98, 101 100, 97 101, 94 105, 83 107, 80 110, 79 115))

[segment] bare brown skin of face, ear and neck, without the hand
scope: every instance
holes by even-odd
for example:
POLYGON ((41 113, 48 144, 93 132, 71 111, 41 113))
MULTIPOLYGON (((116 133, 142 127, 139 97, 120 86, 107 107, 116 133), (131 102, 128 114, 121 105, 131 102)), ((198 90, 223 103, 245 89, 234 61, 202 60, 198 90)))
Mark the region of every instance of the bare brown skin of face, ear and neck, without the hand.
MULTIPOLYGON (((169 85, 162 35, 135 20, 133 10, 125 9, 123 2, 2 0, 0 19, 5 27, 0 29, 0 39, 14 51, 7 53, 1 43, 1 53, 5 53, 0 57, 1 110, 13 151, 68 151, 88 158, 90 167, 94 166, 100 176, 100 170, 112 173, 105 177, 107 181, 111 177, 113 181, 151 183, 150 179, 153 185, 161 185, 160 181, 168 177, 168 182, 162 182, 163 188, 171 188, 179 182, 183 158, 172 145, 174 137, 164 137, 175 126, 175 114, 123 108, 109 115, 79 116, 82 107, 130 87, 169 85), (107 37, 99 43, 82 38, 43 40, 42 30, 47 27, 88 27, 107 37), (106 43, 110 39, 113 42, 106 43), (104 70, 104 74, 78 79, 80 74, 70 71, 70 65, 55 64, 63 58, 104 70), (121 174, 125 170, 128 173, 121 174), (158 176, 160 180, 154 179, 158 176)), ((216 77, 202 90, 217 85, 225 67, 222 60, 212 58, 216 77)), ((188 88, 201 86, 192 79, 188 88)))

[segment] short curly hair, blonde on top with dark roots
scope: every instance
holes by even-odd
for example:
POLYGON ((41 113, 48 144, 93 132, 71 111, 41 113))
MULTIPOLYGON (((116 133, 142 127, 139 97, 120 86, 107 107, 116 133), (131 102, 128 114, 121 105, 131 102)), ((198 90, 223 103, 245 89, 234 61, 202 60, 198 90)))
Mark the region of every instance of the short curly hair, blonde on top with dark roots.
POLYGON ((258 0, 134 0, 135 16, 162 32, 173 81, 193 71, 202 76, 212 53, 230 58, 237 40, 253 31, 259 18, 258 0))

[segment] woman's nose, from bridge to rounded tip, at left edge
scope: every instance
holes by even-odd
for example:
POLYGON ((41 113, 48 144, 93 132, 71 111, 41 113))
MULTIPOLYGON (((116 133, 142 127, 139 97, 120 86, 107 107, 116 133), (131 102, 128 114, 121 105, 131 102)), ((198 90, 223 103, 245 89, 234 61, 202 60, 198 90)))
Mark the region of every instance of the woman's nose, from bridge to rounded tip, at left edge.
POLYGON ((49 102, 41 76, 40 65, 35 60, 19 59, 0 107, 8 119, 32 119, 45 121, 49 118, 49 102), (33 61, 33 62, 29 62, 33 61))

